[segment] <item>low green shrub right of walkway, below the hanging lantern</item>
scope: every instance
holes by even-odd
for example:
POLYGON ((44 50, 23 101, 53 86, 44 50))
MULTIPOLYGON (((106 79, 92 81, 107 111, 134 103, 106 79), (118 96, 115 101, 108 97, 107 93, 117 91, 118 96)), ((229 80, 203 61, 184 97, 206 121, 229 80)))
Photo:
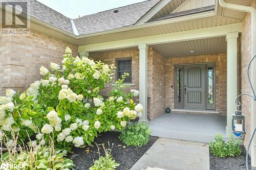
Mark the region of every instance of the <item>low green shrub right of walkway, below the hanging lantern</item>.
POLYGON ((215 140, 210 142, 210 152, 217 157, 225 158, 228 156, 234 157, 241 155, 242 140, 234 140, 233 136, 230 135, 230 139, 227 142, 224 141, 221 134, 215 135, 215 140))

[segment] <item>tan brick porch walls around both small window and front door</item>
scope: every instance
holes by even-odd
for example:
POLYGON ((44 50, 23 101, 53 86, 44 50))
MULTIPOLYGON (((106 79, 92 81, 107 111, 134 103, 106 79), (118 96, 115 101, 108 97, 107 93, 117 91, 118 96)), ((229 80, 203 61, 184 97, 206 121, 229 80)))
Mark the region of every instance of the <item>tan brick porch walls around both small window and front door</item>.
MULTIPOLYGON (((114 52, 90 53, 89 58, 102 61, 107 64, 116 64, 118 58, 132 58, 132 83, 135 86, 126 88, 139 90, 139 50, 123 50, 114 52)), ((174 108, 174 66, 175 64, 216 62, 216 108, 221 114, 226 114, 226 54, 164 58, 152 47, 148 49, 148 118, 153 119, 163 114, 166 107, 174 108), (171 87, 173 86, 173 87, 171 87)), ((103 95, 108 95, 112 89, 112 83, 105 85, 103 95)))

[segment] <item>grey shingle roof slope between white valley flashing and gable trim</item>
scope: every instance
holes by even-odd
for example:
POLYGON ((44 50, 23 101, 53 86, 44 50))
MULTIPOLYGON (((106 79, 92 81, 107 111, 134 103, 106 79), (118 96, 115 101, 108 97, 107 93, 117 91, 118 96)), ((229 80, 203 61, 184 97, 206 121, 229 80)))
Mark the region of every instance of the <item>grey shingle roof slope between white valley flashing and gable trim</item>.
POLYGON ((150 0, 74 19, 78 33, 91 34, 134 25, 160 0, 150 0), (117 13, 114 13, 118 10, 117 13))

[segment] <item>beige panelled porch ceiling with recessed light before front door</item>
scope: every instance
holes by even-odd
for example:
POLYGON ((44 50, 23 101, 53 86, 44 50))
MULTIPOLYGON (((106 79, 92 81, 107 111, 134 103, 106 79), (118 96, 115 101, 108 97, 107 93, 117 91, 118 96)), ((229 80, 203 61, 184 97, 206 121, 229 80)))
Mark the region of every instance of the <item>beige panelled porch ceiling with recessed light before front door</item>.
POLYGON ((163 57, 186 57, 226 53, 225 37, 171 42, 153 45, 163 57), (191 52, 194 51, 194 52, 191 52))

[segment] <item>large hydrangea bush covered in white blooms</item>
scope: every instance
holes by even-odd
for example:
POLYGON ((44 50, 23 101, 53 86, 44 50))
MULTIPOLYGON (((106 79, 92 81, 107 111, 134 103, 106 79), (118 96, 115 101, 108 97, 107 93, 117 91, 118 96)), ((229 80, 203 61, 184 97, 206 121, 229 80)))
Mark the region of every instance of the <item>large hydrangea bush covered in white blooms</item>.
POLYGON ((116 82, 109 98, 103 100, 100 90, 112 80, 114 65, 74 58, 67 47, 61 66, 50 63, 50 68, 41 66, 39 71, 44 78, 32 83, 22 94, 7 90, 6 96, 0 98, 3 131, 29 130, 30 135, 38 140, 44 137, 46 141, 52 135, 57 148, 70 151, 73 145, 91 144, 98 133, 124 129, 127 121, 143 112, 142 105, 132 100, 139 91, 123 92, 127 74, 116 82), (14 112, 20 106, 25 117, 14 112))

